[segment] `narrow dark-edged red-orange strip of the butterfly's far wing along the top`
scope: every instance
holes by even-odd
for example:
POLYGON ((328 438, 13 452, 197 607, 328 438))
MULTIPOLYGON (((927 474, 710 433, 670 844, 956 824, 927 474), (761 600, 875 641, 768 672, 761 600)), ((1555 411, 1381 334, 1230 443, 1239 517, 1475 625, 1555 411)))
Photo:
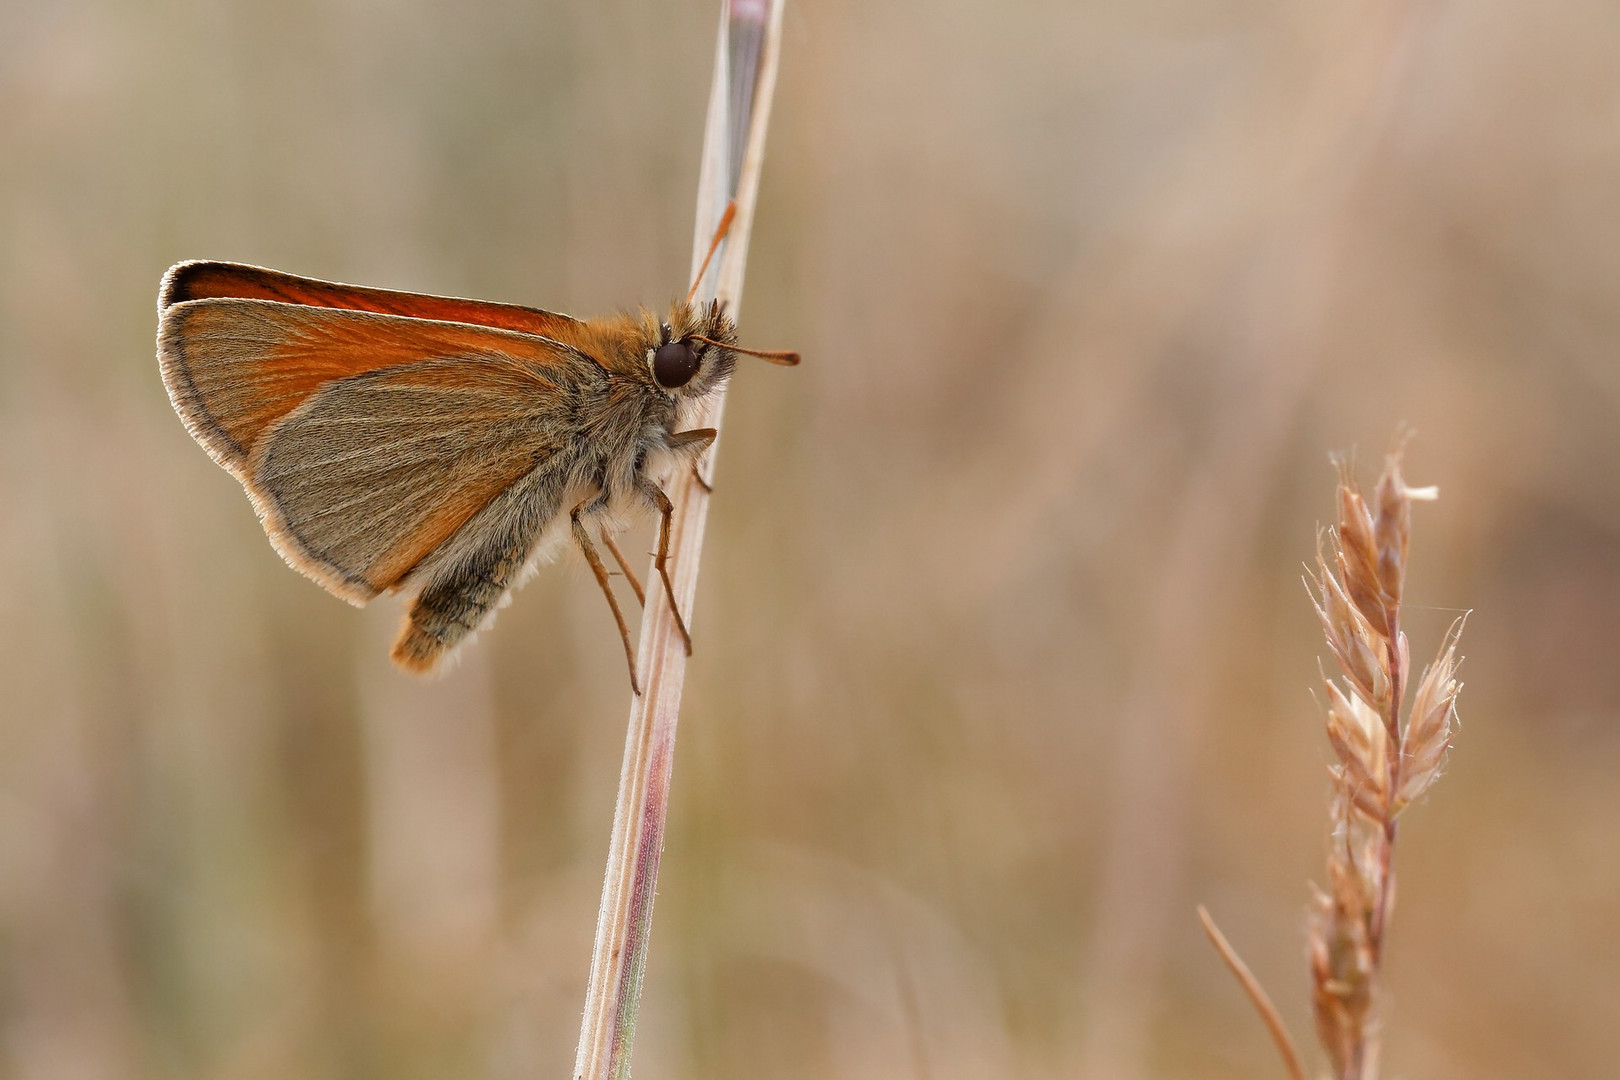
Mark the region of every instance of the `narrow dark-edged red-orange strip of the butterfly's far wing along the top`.
POLYGON ((168 267, 157 293, 159 314, 188 300, 279 300, 306 308, 345 308, 411 319, 471 322, 539 337, 565 335, 570 327, 580 325, 578 319, 539 308, 339 285, 243 262, 177 262, 168 267))

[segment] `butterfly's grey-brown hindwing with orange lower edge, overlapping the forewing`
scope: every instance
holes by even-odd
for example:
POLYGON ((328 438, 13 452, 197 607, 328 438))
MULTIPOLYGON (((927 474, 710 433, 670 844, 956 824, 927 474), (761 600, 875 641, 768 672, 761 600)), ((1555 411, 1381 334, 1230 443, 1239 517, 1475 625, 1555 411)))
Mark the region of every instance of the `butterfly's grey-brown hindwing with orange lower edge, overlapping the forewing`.
POLYGON ((458 356, 321 389, 249 460, 271 541, 340 596, 397 586, 514 484, 567 471, 573 405, 599 372, 582 358, 551 374, 458 356))

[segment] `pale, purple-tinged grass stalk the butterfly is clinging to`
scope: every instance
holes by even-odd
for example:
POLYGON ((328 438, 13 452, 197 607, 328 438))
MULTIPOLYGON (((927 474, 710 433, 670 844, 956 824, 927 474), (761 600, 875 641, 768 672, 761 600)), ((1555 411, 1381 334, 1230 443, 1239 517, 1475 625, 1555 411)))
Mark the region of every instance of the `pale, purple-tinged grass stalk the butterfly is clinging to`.
MULTIPOLYGON (((784 0, 727 0, 721 10, 714 49, 692 272, 697 274, 727 202, 735 199, 735 220, 697 290, 700 298, 723 301, 732 317, 742 300, 765 134, 776 89, 782 5, 784 0)), ((706 413, 693 426, 719 429, 723 408, 724 392, 711 398, 706 413)), ((714 449, 718 445, 716 440, 714 449)), ((714 460, 714 449, 710 450, 710 463, 714 460)), ((666 489, 676 505, 669 534, 671 581, 676 602, 690 622, 708 492, 687 471, 669 478, 666 489)), ((650 570, 646 580, 658 581, 656 572, 650 570)), ((596 946, 573 1062, 575 1080, 619 1080, 630 1075, 630 1048, 669 811, 676 722, 687 672, 685 644, 669 597, 659 588, 648 589, 637 669, 645 680, 645 691, 630 699, 630 727, 619 774, 608 873, 596 916, 596 946)))

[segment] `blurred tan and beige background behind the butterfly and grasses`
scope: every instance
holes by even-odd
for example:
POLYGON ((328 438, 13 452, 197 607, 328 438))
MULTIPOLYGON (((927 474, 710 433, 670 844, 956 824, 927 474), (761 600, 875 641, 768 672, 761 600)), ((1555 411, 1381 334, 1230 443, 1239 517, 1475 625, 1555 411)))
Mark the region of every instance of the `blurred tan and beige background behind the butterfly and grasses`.
MULTIPOLYGON (((168 408, 188 257, 685 285, 718 5, 0 0, 0 1075, 564 1077, 624 738, 539 575, 437 683, 168 408)), ((1309 1040, 1330 450, 1418 439, 1388 1075, 1620 1061, 1609 0, 787 13, 638 1077, 1267 1077, 1309 1040)), ((645 539, 637 538, 645 549, 645 539)))

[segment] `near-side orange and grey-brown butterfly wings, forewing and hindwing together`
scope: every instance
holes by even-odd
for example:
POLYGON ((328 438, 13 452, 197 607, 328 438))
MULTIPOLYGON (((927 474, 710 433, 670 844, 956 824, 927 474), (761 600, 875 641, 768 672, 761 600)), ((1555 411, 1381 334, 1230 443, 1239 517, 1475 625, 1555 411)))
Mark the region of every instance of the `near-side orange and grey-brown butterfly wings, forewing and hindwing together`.
POLYGON ((271 300, 168 304, 159 356, 186 429, 275 549, 353 602, 569 450, 573 402, 606 382, 531 334, 271 300))

